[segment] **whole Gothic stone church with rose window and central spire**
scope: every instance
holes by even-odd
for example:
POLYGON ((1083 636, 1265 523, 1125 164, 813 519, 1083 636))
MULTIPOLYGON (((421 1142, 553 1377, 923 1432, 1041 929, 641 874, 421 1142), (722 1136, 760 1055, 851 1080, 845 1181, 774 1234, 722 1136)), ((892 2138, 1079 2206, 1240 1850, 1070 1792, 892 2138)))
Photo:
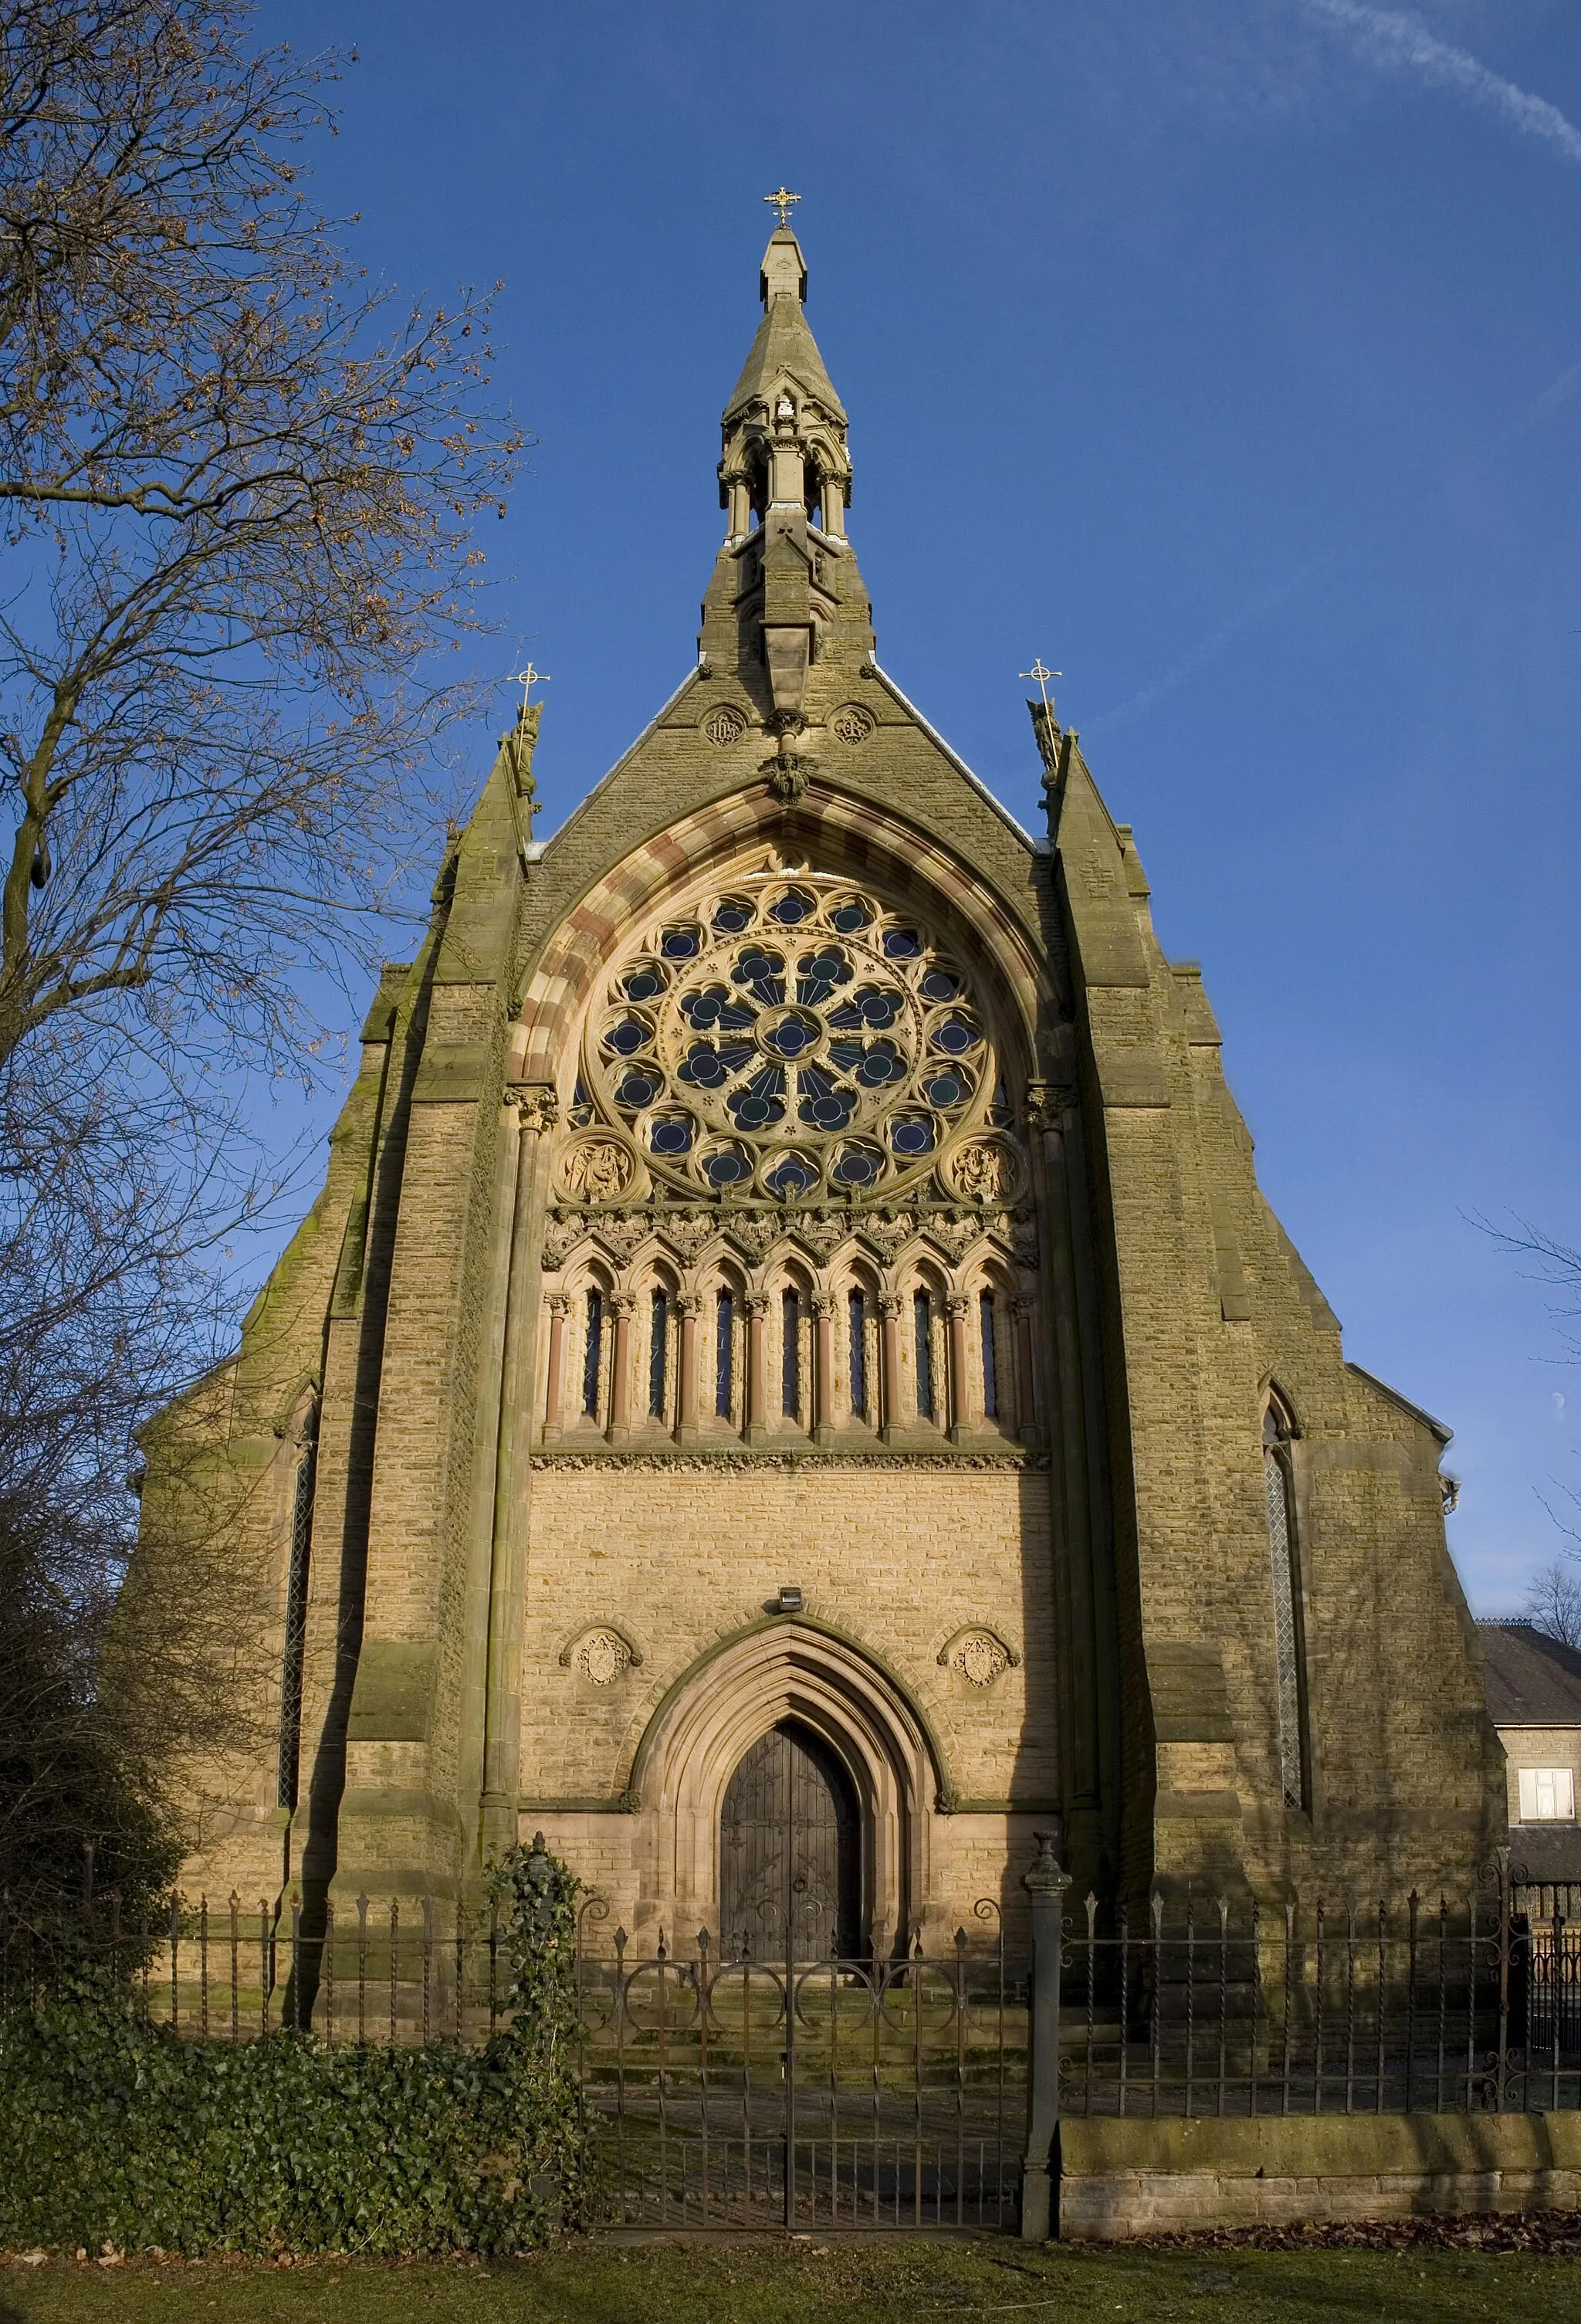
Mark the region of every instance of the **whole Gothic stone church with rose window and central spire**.
POLYGON ((186 1887, 542 1829, 609 1927, 814 1950, 981 1934, 1035 1829, 1076 1894, 1465 1889, 1448 1432, 1344 1360, 1074 732, 1032 837, 881 669, 804 293, 781 228, 695 667, 553 839, 521 713, 153 1436, 265 1608, 186 1887))

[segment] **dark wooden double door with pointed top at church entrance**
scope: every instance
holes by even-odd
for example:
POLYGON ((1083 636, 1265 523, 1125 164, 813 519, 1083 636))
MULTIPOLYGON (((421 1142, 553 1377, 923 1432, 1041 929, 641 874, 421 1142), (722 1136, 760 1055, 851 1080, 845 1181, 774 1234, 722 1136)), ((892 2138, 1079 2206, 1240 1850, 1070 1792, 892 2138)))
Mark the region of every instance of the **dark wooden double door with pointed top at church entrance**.
POLYGON ((779 1720, 742 1755, 718 1817, 725 1952, 851 1959, 863 1950, 863 1810, 839 1755, 779 1720))

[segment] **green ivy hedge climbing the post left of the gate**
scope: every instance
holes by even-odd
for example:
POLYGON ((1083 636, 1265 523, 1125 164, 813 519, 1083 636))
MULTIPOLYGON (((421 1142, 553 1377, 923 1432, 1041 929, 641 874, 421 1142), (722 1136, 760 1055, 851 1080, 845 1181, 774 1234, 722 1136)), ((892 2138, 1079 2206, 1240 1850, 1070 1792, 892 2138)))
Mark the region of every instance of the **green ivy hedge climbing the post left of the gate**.
POLYGON ((184 2040, 74 1980, 0 2015, 0 2250, 518 2252, 574 2222, 574 1882, 514 1850, 486 2050, 184 2040))

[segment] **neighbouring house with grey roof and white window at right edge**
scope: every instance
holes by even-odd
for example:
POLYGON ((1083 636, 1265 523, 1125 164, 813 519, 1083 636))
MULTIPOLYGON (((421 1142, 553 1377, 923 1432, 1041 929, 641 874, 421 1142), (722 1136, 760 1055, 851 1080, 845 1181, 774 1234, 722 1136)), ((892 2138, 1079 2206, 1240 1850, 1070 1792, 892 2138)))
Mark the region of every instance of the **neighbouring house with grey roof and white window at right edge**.
POLYGON ((1516 1878, 1581 1880, 1581 1652, 1530 1622, 1481 1622, 1488 1715, 1509 1769, 1516 1878))

